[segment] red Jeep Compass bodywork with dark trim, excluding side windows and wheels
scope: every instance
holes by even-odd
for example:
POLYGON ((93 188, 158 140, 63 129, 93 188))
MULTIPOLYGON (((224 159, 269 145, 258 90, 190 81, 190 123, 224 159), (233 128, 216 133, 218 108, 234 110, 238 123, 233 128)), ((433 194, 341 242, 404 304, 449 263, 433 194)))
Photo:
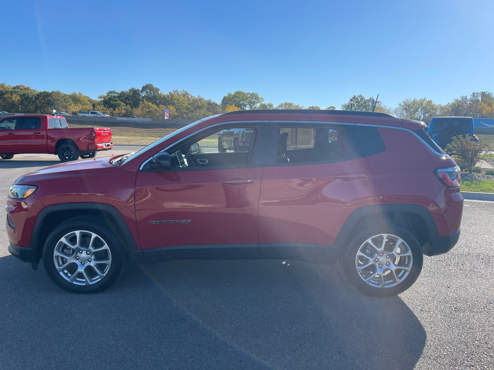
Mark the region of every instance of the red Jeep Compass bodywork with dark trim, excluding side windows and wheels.
MULTIPOLYGON (((135 245, 130 252, 136 259, 338 256, 351 227, 362 220, 359 215, 364 213, 359 212, 365 210, 372 218, 390 212, 416 214, 427 230, 424 243, 431 245, 429 252, 423 247, 424 253, 445 253, 459 236, 463 198, 459 186, 445 187, 435 177, 435 169, 456 164, 434 154, 412 133, 422 126, 423 122, 358 112, 219 115, 184 127, 120 166, 110 163, 120 156, 102 157, 20 177, 16 184, 39 188, 25 200, 7 199, 6 210, 16 228, 7 225, 7 234, 12 244, 26 249, 26 256, 32 250, 31 257, 17 257, 37 263, 43 243, 42 232, 33 232, 42 222, 38 216, 46 211, 47 217, 53 207, 61 206, 77 215, 85 209, 81 204, 95 204, 111 206, 122 216, 124 225, 119 227, 130 232, 132 240, 127 242, 135 245), (274 132, 276 121, 377 125, 385 150, 334 163, 281 166, 269 164, 268 154, 264 159, 262 152, 264 164, 252 166, 140 170, 154 154, 202 128, 259 122, 264 125, 261 132, 264 127, 274 132)), ((258 144, 266 153, 274 145, 271 139, 268 135, 265 148, 258 144)))

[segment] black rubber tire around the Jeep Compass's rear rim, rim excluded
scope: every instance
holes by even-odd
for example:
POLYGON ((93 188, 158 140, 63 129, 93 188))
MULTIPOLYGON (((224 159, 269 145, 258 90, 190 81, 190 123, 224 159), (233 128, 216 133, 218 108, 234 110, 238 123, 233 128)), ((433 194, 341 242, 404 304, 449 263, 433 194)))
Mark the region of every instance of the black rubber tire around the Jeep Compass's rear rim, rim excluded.
POLYGON ((417 280, 422 270, 423 254, 417 239, 405 227, 398 224, 374 224, 360 231, 348 244, 343 254, 343 266, 345 274, 350 283, 360 292, 368 296, 388 297, 396 296, 405 292, 417 280), (376 288, 364 282, 355 267, 357 251, 361 245, 370 237, 378 234, 392 234, 400 237, 408 244, 412 252, 412 269, 405 280, 390 288, 376 288))

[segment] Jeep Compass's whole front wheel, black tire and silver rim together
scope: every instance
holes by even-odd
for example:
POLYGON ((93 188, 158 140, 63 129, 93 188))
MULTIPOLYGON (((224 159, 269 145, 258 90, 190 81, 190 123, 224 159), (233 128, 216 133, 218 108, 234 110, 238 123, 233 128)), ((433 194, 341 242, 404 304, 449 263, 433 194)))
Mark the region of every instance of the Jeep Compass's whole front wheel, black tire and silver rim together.
POLYGON ((124 252, 106 227, 86 220, 69 220, 47 237, 43 265, 60 288, 72 293, 97 293, 120 276, 124 252))

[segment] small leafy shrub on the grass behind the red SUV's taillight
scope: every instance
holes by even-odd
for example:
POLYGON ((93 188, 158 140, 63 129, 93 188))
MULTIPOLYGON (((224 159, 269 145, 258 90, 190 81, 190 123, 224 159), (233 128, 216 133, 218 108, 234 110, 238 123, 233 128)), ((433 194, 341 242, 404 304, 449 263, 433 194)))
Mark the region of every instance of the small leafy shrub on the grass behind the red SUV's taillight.
POLYGON ((456 163, 462 170, 467 170, 468 173, 474 173, 474 167, 477 162, 484 159, 489 150, 491 150, 489 145, 482 139, 476 143, 470 141, 470 137, 465 135, 455 136, 453 142, 448 144, 446 149, 456 153, 456 163))

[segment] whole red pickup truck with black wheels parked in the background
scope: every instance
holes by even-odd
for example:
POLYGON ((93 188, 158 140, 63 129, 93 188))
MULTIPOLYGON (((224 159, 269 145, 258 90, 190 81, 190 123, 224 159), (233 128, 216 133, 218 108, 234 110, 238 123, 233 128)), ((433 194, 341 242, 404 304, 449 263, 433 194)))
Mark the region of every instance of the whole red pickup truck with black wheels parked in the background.
POLYGON ((62 162, 92 158, 96 151, 113 148, 109 128, 69 128, 57 115, 15 115, 0 120, 0 157, 14 154, 57 154, 62 162))

